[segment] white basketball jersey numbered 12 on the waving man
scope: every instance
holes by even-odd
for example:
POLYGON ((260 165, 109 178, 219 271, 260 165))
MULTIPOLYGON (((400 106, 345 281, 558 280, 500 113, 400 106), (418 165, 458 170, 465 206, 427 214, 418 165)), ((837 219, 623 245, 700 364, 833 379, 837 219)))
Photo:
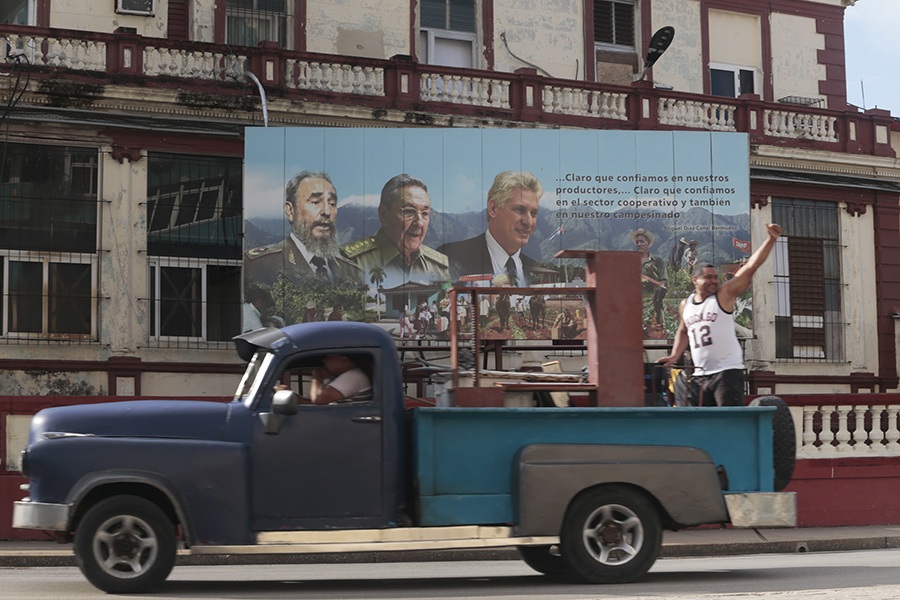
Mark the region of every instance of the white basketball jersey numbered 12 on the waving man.
POLYGON ((743 352, 734 331, 734 314, 719 306, 715 295, 697 303, 691 294, 681 317, 687 327, 695 375, 744 368, 743 352))

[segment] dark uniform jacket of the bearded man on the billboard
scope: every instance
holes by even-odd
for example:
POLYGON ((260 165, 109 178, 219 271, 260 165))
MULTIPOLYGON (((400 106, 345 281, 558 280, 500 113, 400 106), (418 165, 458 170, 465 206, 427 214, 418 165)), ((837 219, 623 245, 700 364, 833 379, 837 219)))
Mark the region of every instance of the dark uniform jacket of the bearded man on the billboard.
MULTIPOLYGON (((331 257, 327 262, 333 281, 356 283, 362 281, 359 267, 343 256, 331 257)), ((244 274, 248 281, 271 286, 278 279, 279 273, 283 273, 289 281, 300 285, 304 281, 316 279, 315 270, 306 262, 303 253, 291 238, 270 246, 253 248, 244 253, 244 274)))

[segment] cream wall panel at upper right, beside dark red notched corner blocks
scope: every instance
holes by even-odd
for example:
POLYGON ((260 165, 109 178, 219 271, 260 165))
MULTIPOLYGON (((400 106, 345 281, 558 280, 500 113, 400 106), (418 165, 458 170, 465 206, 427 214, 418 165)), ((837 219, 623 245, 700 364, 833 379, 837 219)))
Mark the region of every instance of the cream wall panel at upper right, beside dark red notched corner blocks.
POLYGON ((825 65, 818 64, 818 51, 825 49, 825 36, 816 33, 816 20, 773 13, 771 23, 775 99, 822 97, 819 81, 825 81, 826 73, 825 65))

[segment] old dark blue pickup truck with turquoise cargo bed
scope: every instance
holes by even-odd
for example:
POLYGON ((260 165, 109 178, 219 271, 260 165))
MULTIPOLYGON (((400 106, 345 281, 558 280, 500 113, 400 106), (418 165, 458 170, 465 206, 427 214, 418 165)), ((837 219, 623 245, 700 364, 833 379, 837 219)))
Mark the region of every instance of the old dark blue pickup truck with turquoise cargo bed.
POLYGON ((248 365, 230 403, 38 413, 13 525, 74 541, 92 584, 137 593, 164 582, 179 548, 515 546, 547 575, 626 582, 653 565, 664 530, 796 521, 793 494, 778 491, 794 440, 777 402, 407 409, 397 349, 376 326, 293 325, 236 344, 248 365), (371 393, 303 404, 330 354, 363 365, 371 393))

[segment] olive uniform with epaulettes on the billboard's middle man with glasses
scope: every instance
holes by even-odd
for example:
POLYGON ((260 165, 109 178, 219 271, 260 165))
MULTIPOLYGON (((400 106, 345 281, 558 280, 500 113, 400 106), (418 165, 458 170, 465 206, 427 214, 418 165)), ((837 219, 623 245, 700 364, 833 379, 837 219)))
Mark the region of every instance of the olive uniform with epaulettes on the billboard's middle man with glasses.
POLYGON ((430 283, 450 279, 446 255, 423 245, 412 261, 406 264, 403 255, 383 229, 379 229, 373 236, 347 244, 341 251, 360 268, 364 281, 369 280, 374 267, 384 269, 382 285, 386 287, 394 287, 407 281, 430 283))

